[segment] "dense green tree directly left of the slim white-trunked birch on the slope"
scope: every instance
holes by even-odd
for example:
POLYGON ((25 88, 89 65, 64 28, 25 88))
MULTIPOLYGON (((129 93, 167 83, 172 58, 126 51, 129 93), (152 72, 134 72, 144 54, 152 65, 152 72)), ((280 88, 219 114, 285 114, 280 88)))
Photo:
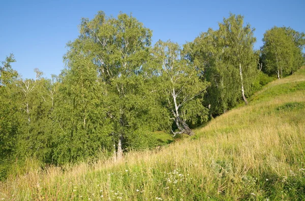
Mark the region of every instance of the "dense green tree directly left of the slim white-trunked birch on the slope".
POLYGON ((239 97, 236 79, 239 75, 225 59, 224 42, 218 30, 208 29, 184 46, 187 58, 197 66, 200 78, 209 83, 203 104, 210 115, 218 115, 233 107, 239 97))

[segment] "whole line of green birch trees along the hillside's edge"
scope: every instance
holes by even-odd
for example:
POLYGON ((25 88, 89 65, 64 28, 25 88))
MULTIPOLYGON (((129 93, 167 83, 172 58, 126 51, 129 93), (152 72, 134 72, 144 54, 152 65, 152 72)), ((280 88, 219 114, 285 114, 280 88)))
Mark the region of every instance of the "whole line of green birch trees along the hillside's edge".
POLYGON ((14 55, 0 66, 0 177, 25 158, 64 165, 100 154, 123 157, 155 147, 154 131, 194 135, 196 126, 248 104, 273 77, 304 64, 304 33, 273 27, 254 50, 254 28, 230 14, 182 47, 151 44, 152 31, 132 15, 82 19, 68 43, 66 68, 52 78, 35 69, 22 79, 14 55))

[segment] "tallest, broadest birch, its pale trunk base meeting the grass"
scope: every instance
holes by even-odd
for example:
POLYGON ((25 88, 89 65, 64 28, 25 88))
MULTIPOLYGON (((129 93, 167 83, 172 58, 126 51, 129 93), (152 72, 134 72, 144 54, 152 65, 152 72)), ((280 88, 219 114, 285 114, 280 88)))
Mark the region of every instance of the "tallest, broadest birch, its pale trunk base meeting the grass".
MULTIPOLYGON (((139 131, 150 130, 148 125, 153 124, 154 118, 148 116, 154 104, 147 104, 152 100, 148 88, 151 85, 143 68, 150 43, 151 30, 133 16, 120 13, 117 18, 107 18, 99 12, 92 20, 82 19, 80 36, 69 44, 71 50, 79 47, 84 57, 90 59, 103 82, 108 100, 107 118, 112 125, 110 135, 118 159, 130 145, 130 136, 136 131, 145 133, 139 131)), ((72 56, 73 52, 69 54, 72 56)))

